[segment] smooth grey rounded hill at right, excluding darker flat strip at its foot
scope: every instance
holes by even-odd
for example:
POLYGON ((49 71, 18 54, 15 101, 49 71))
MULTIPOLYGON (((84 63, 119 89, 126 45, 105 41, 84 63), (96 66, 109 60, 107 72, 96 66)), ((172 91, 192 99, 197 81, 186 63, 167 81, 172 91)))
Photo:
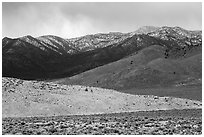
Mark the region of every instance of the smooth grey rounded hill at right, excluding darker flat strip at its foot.
POLYGON ((197 51, 196 55, 179 59, 166 59, 165 51, 162 46, 152 45, 127 58, 70 77, 68 82, 122 89, 170 86, 177 84, 179 80, 196 81, 201 78, 201 51, 197 51))

